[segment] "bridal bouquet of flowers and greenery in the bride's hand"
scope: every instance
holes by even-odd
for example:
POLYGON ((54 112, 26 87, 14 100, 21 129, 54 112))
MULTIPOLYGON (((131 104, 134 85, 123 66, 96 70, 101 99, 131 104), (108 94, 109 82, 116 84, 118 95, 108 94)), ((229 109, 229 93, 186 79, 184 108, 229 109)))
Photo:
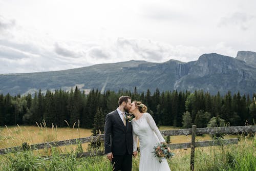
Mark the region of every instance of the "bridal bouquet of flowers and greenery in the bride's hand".
POLYGON ((154 157, 158 158, 161 163, 163 159, 169 159, 174 156, 174 153, 170 152, 170 148, 166 144, 157 144, 153 147, 154 157))

